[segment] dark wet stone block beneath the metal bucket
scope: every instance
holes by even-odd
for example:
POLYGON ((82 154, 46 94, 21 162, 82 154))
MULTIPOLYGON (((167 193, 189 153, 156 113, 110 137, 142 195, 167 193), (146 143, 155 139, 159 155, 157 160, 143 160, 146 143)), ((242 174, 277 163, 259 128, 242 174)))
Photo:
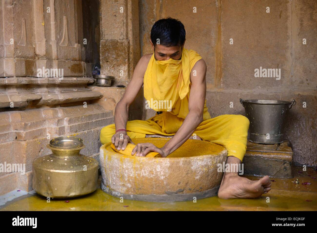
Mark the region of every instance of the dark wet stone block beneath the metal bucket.
POLYGON ((289 142, 281 144, 247 143, 243 158, 244 175, 292 178, 293 151, 289 142))

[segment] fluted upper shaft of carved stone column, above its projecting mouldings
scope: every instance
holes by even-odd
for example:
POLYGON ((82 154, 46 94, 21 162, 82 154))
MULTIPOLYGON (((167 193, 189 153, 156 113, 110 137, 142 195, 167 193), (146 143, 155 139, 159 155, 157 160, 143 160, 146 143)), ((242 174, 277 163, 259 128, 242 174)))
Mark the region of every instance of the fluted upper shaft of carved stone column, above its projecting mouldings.
POLYGON ((0 77, 38 77, 43 67, 63 69, 64 77, 90 77, 81 4, 80 0, 3 0, 0 77))

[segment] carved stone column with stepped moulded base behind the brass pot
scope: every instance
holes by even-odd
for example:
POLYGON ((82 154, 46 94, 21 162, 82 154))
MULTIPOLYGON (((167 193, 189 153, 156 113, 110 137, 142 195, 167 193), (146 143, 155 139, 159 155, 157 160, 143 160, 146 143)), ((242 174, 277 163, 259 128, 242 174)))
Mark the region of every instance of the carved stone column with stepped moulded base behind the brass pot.
POLYGON ((113 115, 91 103, 102 94, 87 87, 99 63, 98 5, 0 1, 0 163, 26 168, 24 175, 0 172, 0 195, 32 190, 32 161, 51 153, 46 145, 54 137, 81 137, 81 153, 99 158, 100 129, 113 115), (63 77, 38 69, 62 69, 63 77))

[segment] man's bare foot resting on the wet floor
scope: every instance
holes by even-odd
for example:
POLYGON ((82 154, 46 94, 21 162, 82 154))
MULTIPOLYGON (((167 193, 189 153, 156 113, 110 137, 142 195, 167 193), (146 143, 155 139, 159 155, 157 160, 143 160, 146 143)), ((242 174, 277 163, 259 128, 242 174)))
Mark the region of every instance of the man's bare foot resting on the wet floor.
POLYGON ((218 191, 218 197, 228 198, 257 198, 271 190, 268 176, 259 180, 241 177, 238 173, 224 173, 218 191))

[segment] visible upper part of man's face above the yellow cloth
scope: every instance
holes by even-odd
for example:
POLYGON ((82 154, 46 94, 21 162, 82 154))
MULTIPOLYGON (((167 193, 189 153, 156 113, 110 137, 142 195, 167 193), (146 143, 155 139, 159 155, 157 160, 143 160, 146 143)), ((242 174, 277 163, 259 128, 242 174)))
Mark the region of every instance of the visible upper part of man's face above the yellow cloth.
POLYGON ((154 48, 152 44, 152 48, 154 49, 154 58, 158 61, 169 60, 170 58, 174 60, 180 60, 182 57, 182 46, 166 47, 164 45, 155 45, 154 48))

